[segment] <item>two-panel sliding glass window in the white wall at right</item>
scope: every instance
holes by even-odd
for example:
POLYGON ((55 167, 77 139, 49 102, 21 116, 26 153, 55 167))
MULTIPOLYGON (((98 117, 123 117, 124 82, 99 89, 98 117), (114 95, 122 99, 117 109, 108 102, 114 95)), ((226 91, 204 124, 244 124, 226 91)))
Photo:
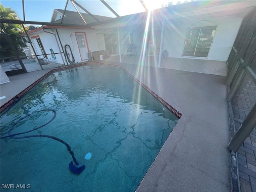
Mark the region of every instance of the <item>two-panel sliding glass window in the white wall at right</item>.
POLYGON ((182 56, 208 57, 217 26, 188 28, 182 56))

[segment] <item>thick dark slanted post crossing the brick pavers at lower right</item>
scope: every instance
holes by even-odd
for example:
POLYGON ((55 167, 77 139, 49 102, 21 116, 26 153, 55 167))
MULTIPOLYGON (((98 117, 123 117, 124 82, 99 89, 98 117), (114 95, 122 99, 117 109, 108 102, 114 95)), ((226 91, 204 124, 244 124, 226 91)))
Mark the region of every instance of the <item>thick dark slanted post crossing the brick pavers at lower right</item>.
POLYGON ((236 132, 234 138, 228 144, 228 149, 236 152, 256 126, 256 104, 250 110, 248 116, 236 132))

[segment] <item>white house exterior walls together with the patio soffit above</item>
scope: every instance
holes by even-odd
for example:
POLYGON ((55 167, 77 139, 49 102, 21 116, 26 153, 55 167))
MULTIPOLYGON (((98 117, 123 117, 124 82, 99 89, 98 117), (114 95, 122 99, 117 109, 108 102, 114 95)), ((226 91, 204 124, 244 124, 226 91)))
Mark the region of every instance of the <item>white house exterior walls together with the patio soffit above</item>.
MULTIPOLYGON (((178 6, 182 8, 182 5, 178 6)), ((113 20, 113 22, 107 23, 102 22, 101 24, 92 26, 92 28, 95 29, 58 29, 58 32, 62 41, 62 45, 70 45, 70 48, 75 58, 75 63, 82 62, 79 48, 76 42, 75 32, 86 33, 86 38, 88 42, 87 51, 91 50, 92 52, 94 52, 106 50, 107 45, 105 44, 106 40, 104 39, 104 34, 117 34, 118 28, 121 54, 127 54, 126 48, 128 45, 128 34, 132 34, 132 39, 136 46, 137 54, 148 54, 149 52, 145 51, 145 49, 148 49, 148 35, 150 34, 150 31, 153 31, 153 33, 155 31, 157 35, 154 35, 153 39, 156 40, 158 44, 158 49, 154 52, 155 56, 159 56, 159 54, 161 54, 160 50, 162 48, 162 50, 168 51, 168 57, 170 58, 191 58, 226 62, 234 44, 234 40, 238 33, 242 19, 246 12, 252 6, 255 6, 255 4, 253 4, 252 2, 239 1, 238 3, 223 4, 215 7, 206 6, 202 8, 198 7, 196 10, 186 10, 186 6, 184 5, 185 10, 180 11, 180 14, 175 14, 171 11, 166 12, 166 10, 168 10, 167 8, 163 8, 162 12, 155 12, 154 16, 149 18, 149 28, 146 27, 147 18, 143 16, 142 13, 139 13, 130 16, 131 22, 129 22, 129 16, 127 16, 127 18, 125 19, 121 18, 120 20, 113 20), (242 10, 236 8, 236 6, 238 5, 239 8, 246 9, 244 9, 244 11, 242 12, 242 10), (166 15, 163 16, 159 13, 166 13, 166 15), (153 18, 154 22, 152 22, 153 18), (162 22, 164 23, 164 36, 163 44, 160 48, 162 22), (198 58, 182 56, 187 28, 206 26, 217 26, 208 57, 198 58), (72 35, 70 36, 70 34, 72 35)), ((54 32, 56 33, 55 30, 54 32)), ((42 44, 44 45, 44 49, 46 50, 46 53, 50 53, 50 48, 52 48, 54 52, 59 52, 58 44, 60 46, 60 43, 56 43, 56 39, 53 35, 45 32, 41 32, 39 35, 42 40, 42 44)), ((150 54, 152 54, 152 52, 150 52, 150 54)), ((56 55, 56 57, 57 62, 62 63, 60 55, 56 55)))

